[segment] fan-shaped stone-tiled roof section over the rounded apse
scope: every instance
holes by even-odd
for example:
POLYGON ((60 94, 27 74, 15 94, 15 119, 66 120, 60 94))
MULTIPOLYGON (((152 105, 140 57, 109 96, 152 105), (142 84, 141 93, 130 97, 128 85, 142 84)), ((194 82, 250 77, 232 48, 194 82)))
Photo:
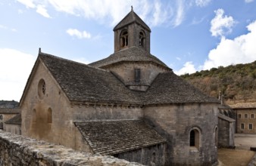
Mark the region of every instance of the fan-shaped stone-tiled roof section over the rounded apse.
POLYGON ((146 91, 145 103, 220 103, 214 97, 203 94, 173 72, 160 73, 146 91))

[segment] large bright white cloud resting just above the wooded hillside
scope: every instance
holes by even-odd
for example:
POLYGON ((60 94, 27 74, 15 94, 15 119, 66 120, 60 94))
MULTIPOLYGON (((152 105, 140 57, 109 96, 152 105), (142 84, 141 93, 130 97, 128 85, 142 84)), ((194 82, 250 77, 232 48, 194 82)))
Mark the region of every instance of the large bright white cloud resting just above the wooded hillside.
POLYGON ((228 66, 237 63, 251 63, 256 60, 256 20, 247 26, 248 33, 233 40, 222 37, 217 48, 208 54, 203 69, 228 66))

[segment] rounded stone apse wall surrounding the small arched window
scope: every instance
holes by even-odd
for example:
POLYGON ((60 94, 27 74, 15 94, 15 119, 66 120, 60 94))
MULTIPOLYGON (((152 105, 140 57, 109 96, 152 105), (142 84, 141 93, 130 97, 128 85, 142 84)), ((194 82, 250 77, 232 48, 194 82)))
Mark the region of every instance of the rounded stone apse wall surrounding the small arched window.
POLYGON ((214 103, 147 106, 145 120, 167 139, 167 165, 214 165, 217 113, 214 103), (198 147, 189 145, 192 130, 199 132, 198 147))

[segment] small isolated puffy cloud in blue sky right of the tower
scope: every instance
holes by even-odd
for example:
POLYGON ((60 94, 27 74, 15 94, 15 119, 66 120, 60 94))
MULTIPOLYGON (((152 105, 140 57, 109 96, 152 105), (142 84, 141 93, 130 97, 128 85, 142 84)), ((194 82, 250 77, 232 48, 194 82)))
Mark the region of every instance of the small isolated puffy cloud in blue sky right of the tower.
POLYGON ((235 25, 236 21, 231 16, 224 16, 224 10, 218 9, 215 12, 215 17, 211 20, 211 35, 224 36, 232 32, 232 27, 235 25))

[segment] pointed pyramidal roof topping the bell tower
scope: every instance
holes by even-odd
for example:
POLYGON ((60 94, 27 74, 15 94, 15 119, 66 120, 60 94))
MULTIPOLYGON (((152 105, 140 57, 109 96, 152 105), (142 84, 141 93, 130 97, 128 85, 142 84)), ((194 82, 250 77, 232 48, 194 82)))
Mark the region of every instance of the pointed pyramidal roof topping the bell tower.
POLYGON ((147 24, 144 23, 144 21, 133 11, 133 9, 130 11, 129 14, 126 15, 126 17, 123 18, 123 20, 120 21, 120 23, 117 23, 117 26, 114 26, 114 31, 117 29, 122 28, 123 26, 129 25, 131 23, 138 23, 139 25, 143 26, 145 29, 147 29, 149 32, 151 32, 151 29, 147 26, 147 24))

